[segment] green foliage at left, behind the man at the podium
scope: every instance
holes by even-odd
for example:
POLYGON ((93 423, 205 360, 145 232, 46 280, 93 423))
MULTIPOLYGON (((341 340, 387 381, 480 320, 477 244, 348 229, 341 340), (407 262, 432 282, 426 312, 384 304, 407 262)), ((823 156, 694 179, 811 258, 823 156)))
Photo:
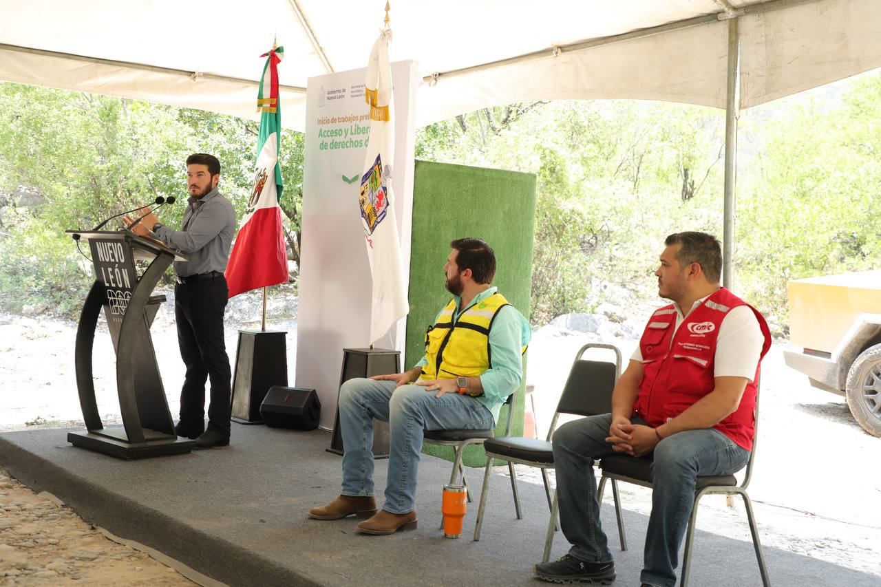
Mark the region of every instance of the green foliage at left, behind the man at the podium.
MULTIPOLYGON (((0 84, 0 192, 26 189, 42 202, 29 207, 15 197, 0 202, 4 305, 20 309, 36 303, 65 313, 78 307, 91 267, 80 263, 63 231, 93 227, 156 196, 178 198, 159 216, 179 224, 191 152, 218 156, 221 191, 241 220, 253 184, 258 130, 257 123, 233 116, 0 84)), ((285 130, 282 142, 285 233, 299 266, 303 137, 285 130)))

